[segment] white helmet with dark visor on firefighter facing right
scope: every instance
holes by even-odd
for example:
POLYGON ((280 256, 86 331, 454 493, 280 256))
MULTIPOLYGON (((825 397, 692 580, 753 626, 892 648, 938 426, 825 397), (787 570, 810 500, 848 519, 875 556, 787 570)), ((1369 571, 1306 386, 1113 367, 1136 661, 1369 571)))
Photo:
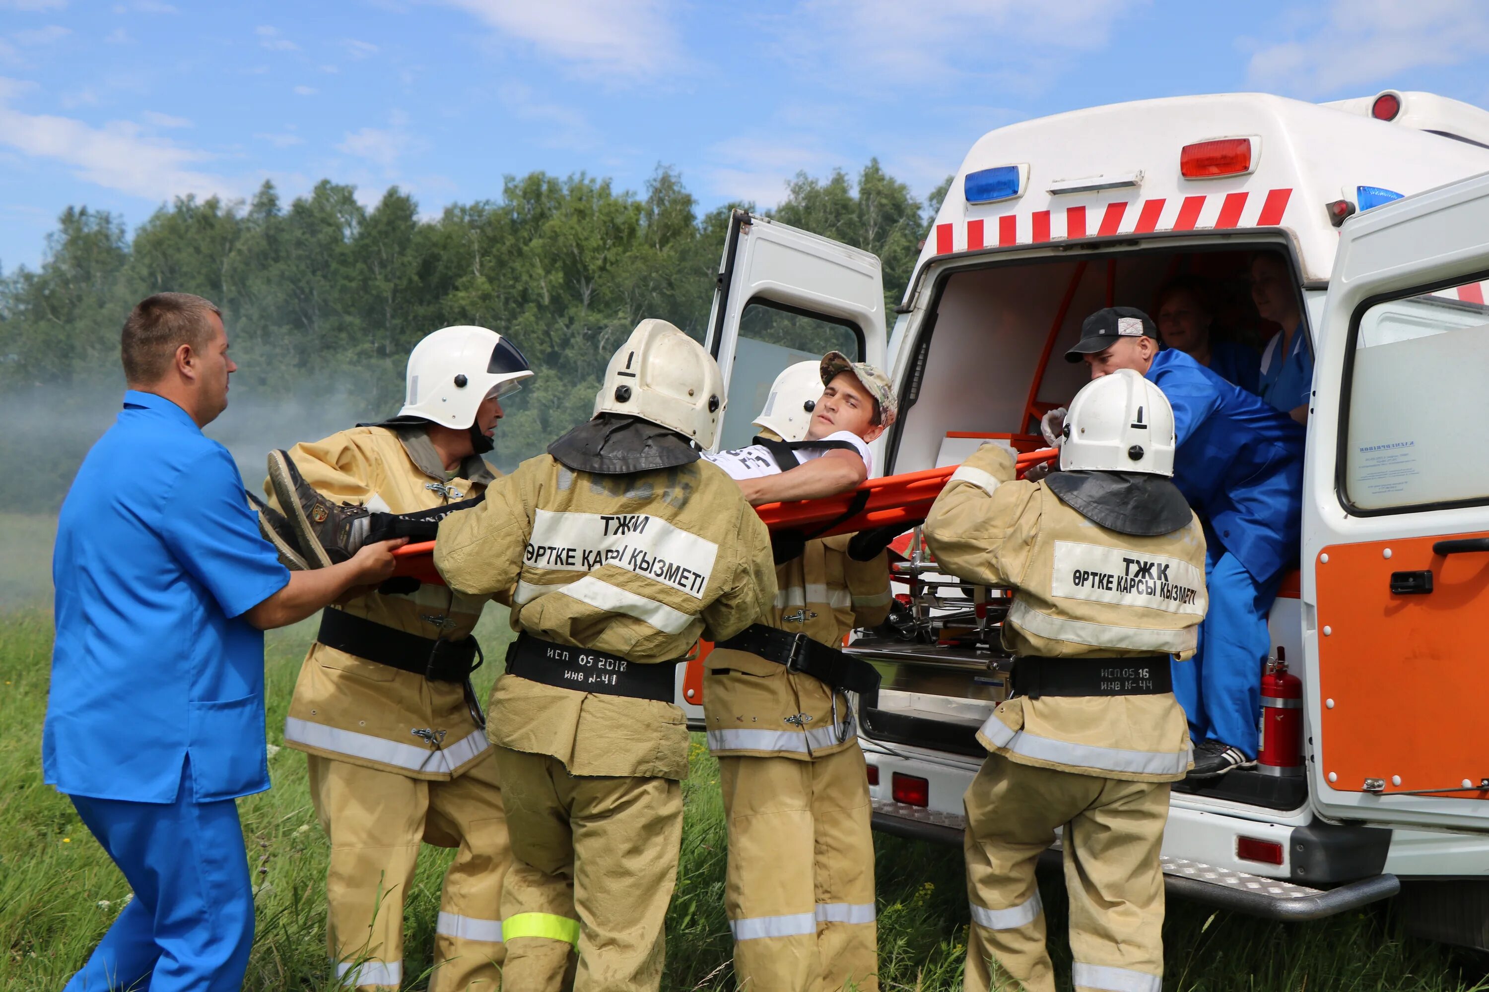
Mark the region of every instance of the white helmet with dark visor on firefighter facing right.
POLYGON ((533 375, 509 338, 485 327, 441 327, 408 355, 408 393, 399 416, 462 430, 485 397, 509 396, 533 375))

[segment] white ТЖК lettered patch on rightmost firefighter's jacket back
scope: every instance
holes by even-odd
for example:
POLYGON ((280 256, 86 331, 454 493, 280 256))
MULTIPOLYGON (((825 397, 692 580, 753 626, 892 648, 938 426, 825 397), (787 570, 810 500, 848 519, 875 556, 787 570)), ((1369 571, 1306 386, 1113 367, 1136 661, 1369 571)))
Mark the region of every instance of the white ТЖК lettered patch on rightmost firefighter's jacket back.
POLYGON ((1205 616, 1203 571, 1167 555, 1102 544, 1056 541, 1050 592, 1062 599, 1205 616))

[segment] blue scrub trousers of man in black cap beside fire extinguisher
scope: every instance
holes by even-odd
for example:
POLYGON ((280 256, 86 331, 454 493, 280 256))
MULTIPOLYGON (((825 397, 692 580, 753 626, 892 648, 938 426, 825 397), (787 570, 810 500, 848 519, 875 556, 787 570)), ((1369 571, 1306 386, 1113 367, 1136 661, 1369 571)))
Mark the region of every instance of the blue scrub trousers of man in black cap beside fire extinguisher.
POLYGON ((1190 660, 1173 662, 1173 696, 1196 741, 1221 741, 1257 757, 1261 666, 1272 650, 1267 613, 1281 583, 1281 571, 1257 582, 1219 541, 1209 541, 1209 611, 1200 623, 1199 647, 1190 660))

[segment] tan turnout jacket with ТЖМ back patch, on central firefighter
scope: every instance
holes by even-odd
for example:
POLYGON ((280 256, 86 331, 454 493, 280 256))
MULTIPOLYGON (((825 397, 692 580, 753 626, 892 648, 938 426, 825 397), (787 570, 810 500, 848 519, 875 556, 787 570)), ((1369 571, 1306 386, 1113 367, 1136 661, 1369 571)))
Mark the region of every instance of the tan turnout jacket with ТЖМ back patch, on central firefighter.
MULTIPOLYGON (((610 476, 530 458, 441 522, 435 567, 472 596, 509 590, 517 631, 639 663, 733 637, 776 595, 765 525, 707 461, 610 476)), ((683 714, 667 702, 503 675, 490 735, 572 775, 688 775, 683 714)))

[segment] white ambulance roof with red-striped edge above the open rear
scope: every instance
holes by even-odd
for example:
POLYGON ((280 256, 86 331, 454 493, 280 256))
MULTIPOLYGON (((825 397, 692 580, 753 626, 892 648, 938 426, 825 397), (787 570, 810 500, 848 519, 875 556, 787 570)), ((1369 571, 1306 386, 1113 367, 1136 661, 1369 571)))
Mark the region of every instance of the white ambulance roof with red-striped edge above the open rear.
MULTIPOLYGON (((1303 277, 1328 280, 1339 232, 1325 204, 1364 196, 1368 205, 1361 187, 1410 195, 1489 171, 1489 149, 1471 143, 1489 137, 1489 115, 1431 94, 1400 97, 1406 113, 1392 122, 1371 117, 1368 103, 1217 94, 1090 107, 989 131, 957 168, 916 268, 950 253, 1071 238, 1282 228, 1303 277), (1429 129, 1470 141, 1403 122, 1413 113, 1443 125, 1429 129), (1217 138, 1249 138, 1249 170, 1184 177, 1184 146, 1217 138), (1017 193, 968 202, 968 174, 993 175, 984 170, 999 167, 1017 167, 1017 193)), ((986 196, 984 189, 978 198, 986 196)))

